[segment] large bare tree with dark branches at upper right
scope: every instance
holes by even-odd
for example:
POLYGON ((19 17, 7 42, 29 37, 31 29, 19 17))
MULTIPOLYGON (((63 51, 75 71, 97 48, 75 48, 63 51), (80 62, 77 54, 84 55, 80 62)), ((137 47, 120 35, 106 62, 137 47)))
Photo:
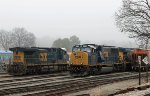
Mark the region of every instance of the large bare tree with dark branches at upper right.
POLYGON ((148 0, 123 0, 116 13, 116 24, 147 49, 150 43, 150 4, 148 0))

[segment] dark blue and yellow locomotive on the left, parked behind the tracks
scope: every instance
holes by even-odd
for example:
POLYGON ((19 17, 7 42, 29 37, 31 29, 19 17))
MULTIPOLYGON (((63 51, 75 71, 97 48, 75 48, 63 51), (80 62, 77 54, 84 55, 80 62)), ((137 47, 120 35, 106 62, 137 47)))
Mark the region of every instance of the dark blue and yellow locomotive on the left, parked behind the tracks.
POLYGON ((61 48, 10 48, 13 61, 8 65, 12 75, 40 74, 44 72, 66 71, 68 56, 61 48))

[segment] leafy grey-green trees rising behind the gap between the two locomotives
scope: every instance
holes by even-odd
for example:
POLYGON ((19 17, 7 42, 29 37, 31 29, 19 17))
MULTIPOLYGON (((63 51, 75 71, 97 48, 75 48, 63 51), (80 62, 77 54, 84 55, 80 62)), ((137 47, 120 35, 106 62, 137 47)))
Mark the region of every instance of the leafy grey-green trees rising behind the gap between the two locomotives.
POLYGON ((74 45, 80 44, 81 41, 79 37, 73 35, 70 38, 59 38, 53 42, 52 47, 57 47, 57 48, 66 48, 67 51, 71 51, 72 47, 74 45))

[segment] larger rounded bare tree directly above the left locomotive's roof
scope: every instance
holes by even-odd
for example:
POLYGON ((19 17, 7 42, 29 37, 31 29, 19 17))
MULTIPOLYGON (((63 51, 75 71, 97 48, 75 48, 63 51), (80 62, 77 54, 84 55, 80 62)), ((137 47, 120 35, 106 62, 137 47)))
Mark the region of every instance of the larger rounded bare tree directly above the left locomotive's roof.
POLYGON ((32 47, 36 45, 34 34, 24 28, 14 28, 12 37, 14 47, 32 47))

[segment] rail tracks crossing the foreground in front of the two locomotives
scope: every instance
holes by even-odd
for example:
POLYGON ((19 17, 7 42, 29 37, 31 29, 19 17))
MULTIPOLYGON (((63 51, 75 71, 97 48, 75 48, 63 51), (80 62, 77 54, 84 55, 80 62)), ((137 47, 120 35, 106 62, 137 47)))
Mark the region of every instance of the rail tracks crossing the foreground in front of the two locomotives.
MULTIPOLYGON (((46 75, 45 75, 46 76, 46 75)), ((33 76, 34 77, 34 76, 33 76)), ((40 76, 39 76, 40 77, 40 76)), ((85 90, 98 85, 108 84, 120 80, 137 78, 136 72, 113 73, 84 78, 71 76, 40 77, 20 81, 0 82, 0 95, 34 96, 34 95, 63 95, 66 93, 85 90)))

